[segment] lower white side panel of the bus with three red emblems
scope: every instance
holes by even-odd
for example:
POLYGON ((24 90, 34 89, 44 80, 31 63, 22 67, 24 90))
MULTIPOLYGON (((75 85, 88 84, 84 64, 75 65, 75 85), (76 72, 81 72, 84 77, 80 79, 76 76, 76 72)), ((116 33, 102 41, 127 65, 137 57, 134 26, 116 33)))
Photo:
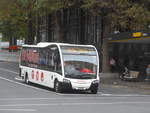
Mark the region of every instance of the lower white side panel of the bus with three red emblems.
POLYGON ((26 66, 20 66, 21 76, 28 75, 29 81, 32 83, 40 84, 50 88, 54 88, 54 80, 62 81, 62 76, 55 72, 44 71, 26 66))

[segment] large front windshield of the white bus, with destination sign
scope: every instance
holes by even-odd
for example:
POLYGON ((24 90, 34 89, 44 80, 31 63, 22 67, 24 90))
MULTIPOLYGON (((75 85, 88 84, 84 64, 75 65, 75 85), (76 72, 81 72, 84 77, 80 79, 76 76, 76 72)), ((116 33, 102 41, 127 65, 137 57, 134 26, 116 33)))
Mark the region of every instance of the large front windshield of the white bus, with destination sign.
POLYGON ((96 79, 97 54, 92 47, 61 46, 66 78, 96 79))

